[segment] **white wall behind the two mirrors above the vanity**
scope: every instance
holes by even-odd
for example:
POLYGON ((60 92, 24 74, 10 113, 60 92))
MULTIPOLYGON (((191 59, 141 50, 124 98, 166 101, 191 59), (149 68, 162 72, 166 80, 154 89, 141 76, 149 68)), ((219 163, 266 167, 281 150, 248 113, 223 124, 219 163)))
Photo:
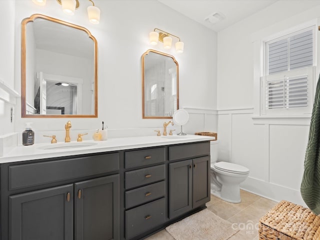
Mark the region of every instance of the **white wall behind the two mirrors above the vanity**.
MULTIPOLYGON (((0 1, 0 8, 2 6, 0 1)), ((63 130, 66 120, 72 129, 97 128, 103 120, 108 128, 162 129, 163 119, 142 119, 141 55, 149 48, 174 55, 179 63, 179 106, 216 108, 216 33, 179 14, 156 0, 97 1, 101 9, 100 24, 87 21, 86 6, 80 0, 74 16, 67 16, 55 0, 45 7, 31 0, 16 0, 15 11, 15 86, 20 91, 20 23, 25 17, 41 13, 86 27, 98 42, 98 118, 21 118, 20 103, 16 106, 15 131, 22 131, 24 122, 32 121, 35 131, 63 130), (164 17, 165 16, 165 17, 164 17), (172 32, 184 41, 184 52, 164 50, 148 43, 154 27, 172 32)), ((189 123, 190 132, 203 125, 189 123)), ((210 128, 216 128, 216 121, 210 128), (215 125, 214 125, 215 124, 215 125)), ((207 129, 210 130, 210 129, 207 129)))

